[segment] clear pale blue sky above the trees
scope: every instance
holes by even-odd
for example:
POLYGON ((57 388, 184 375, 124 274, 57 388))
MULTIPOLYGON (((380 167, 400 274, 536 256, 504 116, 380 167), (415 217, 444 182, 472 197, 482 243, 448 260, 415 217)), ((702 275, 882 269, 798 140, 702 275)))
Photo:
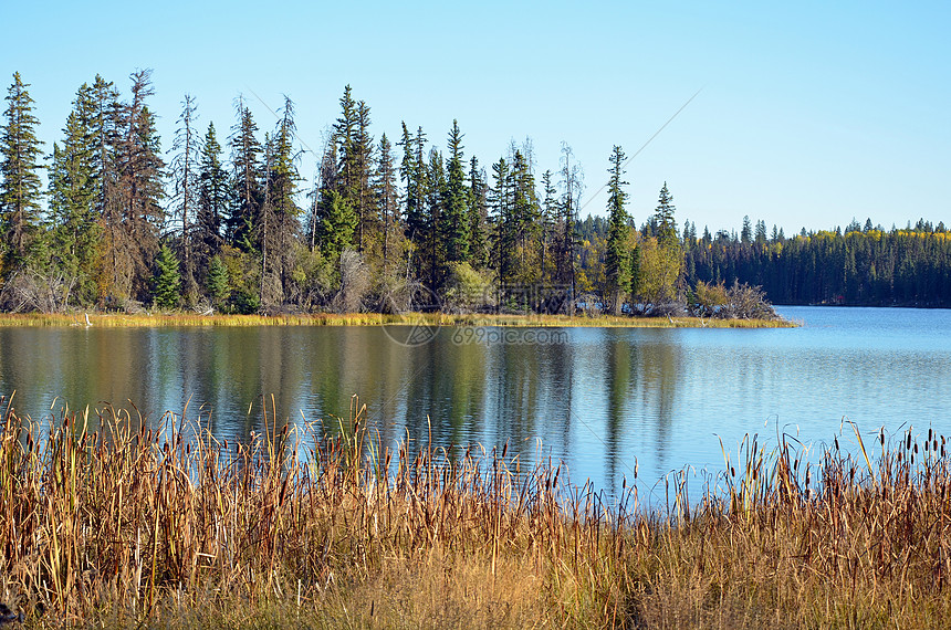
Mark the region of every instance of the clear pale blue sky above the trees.
POLYGON ((0 85, 31 84, 46 151, 96 73, 127 95, 129 73, 154 70, 165 150, 186 93, 219 139, 236 96, 263 135, 286 94, 320 150, 351 84, 375 139, 405 120, 443 148, 457 118, 487 169, 531 138, 537 174, 567 143, 583 214, 599 214, 612 146, 635 154, 702 88, 627 166, 638 224, 665 181, 700 230, 744 214, 786 233, 951 224, 948 2, 2 0, 0 14, 0 85))

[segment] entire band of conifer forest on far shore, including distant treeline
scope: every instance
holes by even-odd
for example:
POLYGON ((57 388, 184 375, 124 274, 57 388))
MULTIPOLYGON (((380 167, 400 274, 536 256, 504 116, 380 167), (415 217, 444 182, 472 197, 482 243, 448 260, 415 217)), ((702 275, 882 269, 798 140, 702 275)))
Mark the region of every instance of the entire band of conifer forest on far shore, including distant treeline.
POLYGON ((744 294, 951 306, 943 223, 886 230, 853 220, 787 237, 746 218, 739 234, 698 233, 690 220, 678 224, 666 182, 654 214, 630 217, 620 146, 594 169, 604 177, 593 183, 608 191, 605 217, 582 219, 584 182, 569 147, 557 171, 539 174, 530 144, 513 141, 494 161, 467 155, 457 122, 445 136, 404 123, 375 137, 369 105, 349 86, 306 185, 290 99, 273 128, 259 128, 241 98, 219 128, 199 127, 186 96, 174 138, 159 138, 149 71, 133 73, 125 92, 97 75, 45 147, 28 88, 14 74, 0 127, 7 312, 574 305, 702 316, 725 314, 744 294))

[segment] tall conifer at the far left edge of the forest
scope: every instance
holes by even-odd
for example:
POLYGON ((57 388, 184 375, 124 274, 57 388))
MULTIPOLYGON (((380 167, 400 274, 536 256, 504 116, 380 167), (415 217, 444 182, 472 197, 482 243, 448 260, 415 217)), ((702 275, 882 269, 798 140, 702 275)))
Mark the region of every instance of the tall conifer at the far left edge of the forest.
POLYGON ((4 269, 28 262, 30 246, 40 233, 42 143, 36 138, 40 122, 33 115, 27 87, 20 73, 13 73, 6 98, 6 124, 0 128, 0 231, 7 250, 0 275, 4 269))

